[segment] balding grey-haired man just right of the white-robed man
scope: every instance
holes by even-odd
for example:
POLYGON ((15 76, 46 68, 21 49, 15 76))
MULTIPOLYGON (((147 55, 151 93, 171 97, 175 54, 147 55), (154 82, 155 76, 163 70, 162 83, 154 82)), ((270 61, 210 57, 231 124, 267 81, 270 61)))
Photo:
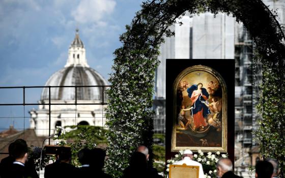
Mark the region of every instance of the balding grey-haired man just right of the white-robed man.
POLYGON ((241 178, 240 176, 234 174, 233 172, 233 163, 228 158, 220 158, 216 164, 217 167, 217 176, 221 178, 241 178))

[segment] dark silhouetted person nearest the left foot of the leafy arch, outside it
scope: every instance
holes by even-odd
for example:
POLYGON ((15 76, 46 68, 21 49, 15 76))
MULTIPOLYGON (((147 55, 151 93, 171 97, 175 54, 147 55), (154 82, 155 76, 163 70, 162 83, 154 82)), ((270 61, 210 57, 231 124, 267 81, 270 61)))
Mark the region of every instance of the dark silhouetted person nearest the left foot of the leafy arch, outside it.
POLYGON ((106 153, 104 150, 95 148, 90 152, 90 168, 94 177, 111 178, 112 176, 103 171, 106 153))

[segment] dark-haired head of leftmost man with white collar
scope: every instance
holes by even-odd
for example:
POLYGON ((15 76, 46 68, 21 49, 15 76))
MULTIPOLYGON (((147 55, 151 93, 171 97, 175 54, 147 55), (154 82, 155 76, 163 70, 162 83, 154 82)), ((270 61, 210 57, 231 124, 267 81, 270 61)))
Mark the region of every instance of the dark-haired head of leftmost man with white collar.
POLYGON ((25 141, 23 142, 16 140, 11 147, 11 155, 15 158, 16 161, 20 161, 22 163, 25 163, 28 159, 27 151, 28 149, 25 141))

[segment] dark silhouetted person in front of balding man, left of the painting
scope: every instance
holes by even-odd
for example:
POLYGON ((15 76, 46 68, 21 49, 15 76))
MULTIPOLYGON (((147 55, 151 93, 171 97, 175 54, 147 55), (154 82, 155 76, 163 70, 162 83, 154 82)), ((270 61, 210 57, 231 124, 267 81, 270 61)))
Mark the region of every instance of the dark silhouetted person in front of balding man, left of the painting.
POLYGON ((124 170, 123 178, 131 177, 156 177, 148 169, 146 155, 134 152, 130 159, 130 165, 124 170))

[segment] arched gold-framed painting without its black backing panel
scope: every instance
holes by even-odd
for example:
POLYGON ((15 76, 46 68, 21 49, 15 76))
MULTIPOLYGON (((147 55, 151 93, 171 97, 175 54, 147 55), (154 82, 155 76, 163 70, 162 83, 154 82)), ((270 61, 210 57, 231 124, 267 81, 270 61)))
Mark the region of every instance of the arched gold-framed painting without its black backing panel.
POLYGON ((171 151, 227 152, 227 87, 208 66, 183 70, 173 83, 171 151))

